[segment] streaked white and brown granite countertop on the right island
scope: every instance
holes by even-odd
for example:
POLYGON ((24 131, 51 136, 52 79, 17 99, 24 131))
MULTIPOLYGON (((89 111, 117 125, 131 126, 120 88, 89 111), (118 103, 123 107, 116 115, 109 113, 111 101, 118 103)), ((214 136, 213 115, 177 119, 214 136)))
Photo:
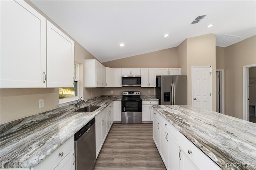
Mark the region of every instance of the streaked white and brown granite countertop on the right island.
POLYGON ((152 107, 222 169, 256 169, 256 123, 188 105, 152 107))

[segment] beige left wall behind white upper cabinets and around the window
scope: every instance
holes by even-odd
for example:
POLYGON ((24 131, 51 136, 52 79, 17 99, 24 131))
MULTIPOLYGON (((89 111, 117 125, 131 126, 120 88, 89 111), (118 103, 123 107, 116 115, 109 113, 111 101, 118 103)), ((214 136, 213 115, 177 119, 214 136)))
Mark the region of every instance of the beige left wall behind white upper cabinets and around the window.
MULTIPOLYGON (((30 1, 26 2, 40 12, 46 19, 50 20, 50 18, 38 10, 30 1)), ((54 23, 52 20, 50 21, 54 23)), ((58 25, 56 26, 58 27, 58 25)), ((61 29, 60 27, 58 28, 61 29)), ((68 34, 66 33, 66 35, 68 34)), ((80 89, 82 89, 79 92, 80 96, 86 99, 99 96, 100 88, 83 88, 84 59, 95 58, 76 41, 74 44, 74 58, 75 62, 79 63, 79 83, 80 89)), ((58 88, 0 89, 0 101, 0 124, 2 124, 57 108, 59 103, 58 88), (38 108, 38 99, 44 99, 43 108, 38 108)))

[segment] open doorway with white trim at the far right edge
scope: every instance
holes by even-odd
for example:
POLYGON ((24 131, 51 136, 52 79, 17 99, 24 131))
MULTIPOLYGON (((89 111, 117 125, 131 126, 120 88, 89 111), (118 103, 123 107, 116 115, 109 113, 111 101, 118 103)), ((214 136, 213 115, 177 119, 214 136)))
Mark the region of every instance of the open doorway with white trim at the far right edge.
POLYGON ((243 67, 243 119, 256 123, 256 64, 243 67))

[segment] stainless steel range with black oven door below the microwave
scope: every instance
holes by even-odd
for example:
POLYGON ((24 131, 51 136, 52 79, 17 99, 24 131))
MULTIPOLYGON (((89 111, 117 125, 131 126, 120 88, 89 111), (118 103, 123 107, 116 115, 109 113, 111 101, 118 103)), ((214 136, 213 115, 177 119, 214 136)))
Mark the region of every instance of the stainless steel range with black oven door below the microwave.
POLYGON ((123 92, 122 95, 122 124, 141 124, 142 99, 140 92, 123 92))

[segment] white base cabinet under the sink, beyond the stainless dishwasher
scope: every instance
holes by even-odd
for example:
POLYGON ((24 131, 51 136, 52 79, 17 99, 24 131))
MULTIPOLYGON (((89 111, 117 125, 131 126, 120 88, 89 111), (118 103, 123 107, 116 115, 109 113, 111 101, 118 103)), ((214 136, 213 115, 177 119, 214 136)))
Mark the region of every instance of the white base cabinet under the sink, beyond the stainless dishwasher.
POLYGON ((100 153, 100 149, 102 148, 104 141, 108 135, 108 131, 110 129, 110 120, 112 121, 112 119, 110 118, 111 107, 112 103, 95 116, 96 159, 98 157, 98 154, 100 153))

